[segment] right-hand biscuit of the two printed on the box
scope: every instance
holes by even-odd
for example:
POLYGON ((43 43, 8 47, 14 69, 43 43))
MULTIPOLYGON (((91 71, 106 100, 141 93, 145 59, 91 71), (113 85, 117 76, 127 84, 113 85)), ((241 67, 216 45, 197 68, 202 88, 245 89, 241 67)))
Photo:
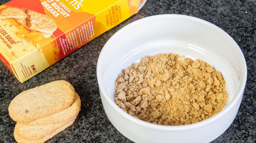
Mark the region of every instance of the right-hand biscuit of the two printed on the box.
POLYGON ((56 22, 47 15, 32 10, 27 10, 26 14, 28 26, 32 30, 52 33, 57 29, 56 22))

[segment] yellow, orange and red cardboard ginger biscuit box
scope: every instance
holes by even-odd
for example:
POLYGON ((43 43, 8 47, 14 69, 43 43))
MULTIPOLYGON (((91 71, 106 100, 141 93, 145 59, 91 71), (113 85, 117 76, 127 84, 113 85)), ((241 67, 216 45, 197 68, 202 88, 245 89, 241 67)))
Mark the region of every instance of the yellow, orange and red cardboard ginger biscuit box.
POLYGON ((138 13, 146 0, 11 0, 0 6, 0 59, 25 82, 138 13))

